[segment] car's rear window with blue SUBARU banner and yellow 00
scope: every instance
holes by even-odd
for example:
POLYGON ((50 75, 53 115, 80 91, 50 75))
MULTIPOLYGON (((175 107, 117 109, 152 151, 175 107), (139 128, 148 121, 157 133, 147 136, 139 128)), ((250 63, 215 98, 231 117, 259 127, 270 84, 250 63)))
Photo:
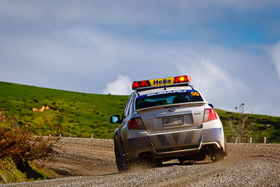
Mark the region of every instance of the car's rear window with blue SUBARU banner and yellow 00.
POLYGON ((135 100, 135 109, 145 109, 153 106, 179 104, 186 102, 203 102, 197 90, 169 90, 141 95, 135 100))

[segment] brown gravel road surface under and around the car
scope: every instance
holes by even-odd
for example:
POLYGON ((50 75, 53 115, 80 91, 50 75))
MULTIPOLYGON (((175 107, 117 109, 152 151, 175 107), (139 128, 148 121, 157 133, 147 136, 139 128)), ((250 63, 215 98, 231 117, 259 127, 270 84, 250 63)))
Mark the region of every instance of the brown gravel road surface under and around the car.
POLYGON ((177 160, 118 173, 111 139, 63 138, 62 150, 45 163, 61 179, 0 186, 280 186, 280 144, 228 144, 229 156, 212 163, 177 160))

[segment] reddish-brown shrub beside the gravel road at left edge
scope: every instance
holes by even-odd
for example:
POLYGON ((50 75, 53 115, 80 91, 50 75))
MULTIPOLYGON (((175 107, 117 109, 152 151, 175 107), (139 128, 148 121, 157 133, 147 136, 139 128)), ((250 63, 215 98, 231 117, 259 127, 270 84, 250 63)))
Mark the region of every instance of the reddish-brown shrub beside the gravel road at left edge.
POLYGON ((54 153, 57 137, 34 137, 31 130, 0 111, 0 159, 11 158, 22 165, 54 153))

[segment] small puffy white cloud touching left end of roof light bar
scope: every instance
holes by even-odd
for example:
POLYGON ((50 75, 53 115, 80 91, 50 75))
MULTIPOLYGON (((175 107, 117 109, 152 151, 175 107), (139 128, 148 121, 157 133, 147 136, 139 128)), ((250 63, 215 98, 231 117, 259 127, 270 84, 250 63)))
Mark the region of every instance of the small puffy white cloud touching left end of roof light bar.
POLYGON ((108 83, 103 94, 130 95, 132 93, 132 81, 128 76, 118 75, 116 81, 108 83))

